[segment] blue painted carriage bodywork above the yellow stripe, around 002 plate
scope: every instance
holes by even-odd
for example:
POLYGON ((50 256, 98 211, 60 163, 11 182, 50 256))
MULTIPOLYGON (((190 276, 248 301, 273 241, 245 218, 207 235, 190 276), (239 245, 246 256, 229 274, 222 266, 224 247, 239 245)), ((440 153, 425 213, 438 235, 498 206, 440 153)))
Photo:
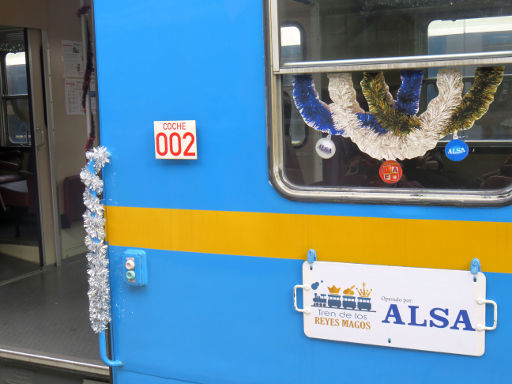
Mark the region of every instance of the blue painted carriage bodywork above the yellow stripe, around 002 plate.
POLYGON ((101 141, 117 206, 504 221, 511 208, 311 204, 269 184, 261 0, 95 1, 101 141), (156 160, 153 121, 197 120, 198 160, 156 160))

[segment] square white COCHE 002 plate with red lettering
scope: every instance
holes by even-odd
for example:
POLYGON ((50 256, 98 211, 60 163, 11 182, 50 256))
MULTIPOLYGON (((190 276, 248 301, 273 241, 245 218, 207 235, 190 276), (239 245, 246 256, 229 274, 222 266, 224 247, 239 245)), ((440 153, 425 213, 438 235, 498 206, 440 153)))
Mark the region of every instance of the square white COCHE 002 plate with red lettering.
POLYGON ((196 121, 155 121, 155 158, 197 159, 196 121))

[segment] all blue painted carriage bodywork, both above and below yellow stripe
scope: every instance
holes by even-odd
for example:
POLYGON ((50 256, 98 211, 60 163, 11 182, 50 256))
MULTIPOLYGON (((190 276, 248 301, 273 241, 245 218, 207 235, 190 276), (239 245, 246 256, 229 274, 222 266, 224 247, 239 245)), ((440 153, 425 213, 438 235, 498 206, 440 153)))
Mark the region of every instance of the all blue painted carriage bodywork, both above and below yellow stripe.
MULTIPOLYGON (((96 0, 95 21, 108 205, 511 221, 511 207, 280 196, 268 182, 260 0, 96 0), (197 121, 197 161, 155 160, 153 121, 170 119, 197 121)), ((147 250, 149 284, 133 287, 124 251, 110 251, 116 384, 512 381, 510 327, 487 334, 481 358, 313 340, 291 302, 300 261, 147 250)), ((512 278, 487 274, 487 286, 510 324, 512 278)))

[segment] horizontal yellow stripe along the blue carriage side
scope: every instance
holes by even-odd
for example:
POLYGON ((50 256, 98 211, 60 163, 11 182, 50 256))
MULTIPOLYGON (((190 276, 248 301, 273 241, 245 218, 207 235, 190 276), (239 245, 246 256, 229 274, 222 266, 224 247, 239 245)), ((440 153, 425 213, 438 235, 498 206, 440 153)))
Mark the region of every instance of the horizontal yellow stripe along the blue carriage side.
POLYGON ((512 273, 512 223, 105 208, 110 245, 512 273))

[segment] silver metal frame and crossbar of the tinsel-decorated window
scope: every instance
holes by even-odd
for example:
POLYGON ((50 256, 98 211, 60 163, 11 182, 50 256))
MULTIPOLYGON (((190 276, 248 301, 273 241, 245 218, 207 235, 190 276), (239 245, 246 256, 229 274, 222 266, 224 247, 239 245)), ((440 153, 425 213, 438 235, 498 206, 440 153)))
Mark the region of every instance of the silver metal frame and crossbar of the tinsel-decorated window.
POLYGON ((279 1, 264 0, 264 17, 266 22, 268 167, 270 181, 281 195, 298 201, 338 203, 456 206, 497 206, 512 203, 512 184, 501 189, 476 190, 306 186, 291 182, 286 177, 284 170, 281 98, 284 75, 510 64, 512 63, 512 51, 281 63, 279 1))

